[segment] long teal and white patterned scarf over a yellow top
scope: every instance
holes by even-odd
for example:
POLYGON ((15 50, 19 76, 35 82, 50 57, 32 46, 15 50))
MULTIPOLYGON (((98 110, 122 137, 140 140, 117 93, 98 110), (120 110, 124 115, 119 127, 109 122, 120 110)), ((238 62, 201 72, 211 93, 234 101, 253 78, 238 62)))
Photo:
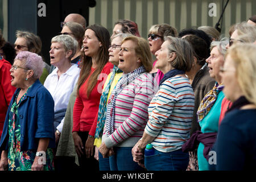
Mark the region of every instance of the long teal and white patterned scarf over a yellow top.
POLYGON ((121 73, 121 72, 122 70, 114 65, 110 80, 108 84, 105 86, 104 92, 101 94, 100 106, 98 107, 97 127, 96 127, 96 133, 94 136, 95 138, 100 138, 102 136, 105 121, 106 121, 106 104, 107 104, 107 99, 109 95, 109 89, 114 80, 115 73, 121 73))

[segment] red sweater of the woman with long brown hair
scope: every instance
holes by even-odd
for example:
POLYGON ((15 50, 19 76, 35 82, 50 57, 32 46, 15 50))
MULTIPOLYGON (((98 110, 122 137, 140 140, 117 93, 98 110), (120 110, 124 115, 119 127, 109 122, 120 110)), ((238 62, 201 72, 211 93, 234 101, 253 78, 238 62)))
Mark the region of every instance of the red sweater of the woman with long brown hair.
POLYGON ((79 90, 79 96, 77 96, 74 109, 73 109, 73 130, 72 131, 90 131, 94 118, 98 113, 98 106, 100 104, 100 98, 104 83, 108 77, 110 71, 113 69, 113 64, 108 62, 101 71, 101 76, 98 77, 98 82, 94 86, 89 98, 87 97, 87 85, 88 80, 92 73, 95 71, 91 69, 90 75, 81 85, 79 90))

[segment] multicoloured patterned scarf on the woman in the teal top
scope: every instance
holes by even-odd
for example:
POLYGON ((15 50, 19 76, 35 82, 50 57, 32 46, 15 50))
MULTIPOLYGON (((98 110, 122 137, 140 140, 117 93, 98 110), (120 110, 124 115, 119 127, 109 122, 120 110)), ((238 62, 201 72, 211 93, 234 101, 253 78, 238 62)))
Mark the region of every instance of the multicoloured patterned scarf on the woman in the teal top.
POLYGON ((204 117, 209 113, 210 109, 214 105, 215 101, 217 100, 218 93, 224 89, 224 85, 216 82, 213 86, 213 89, 210 90, 201 101, 201 104, 197 110, 197 122, 200 122, 204 119, 204 117))

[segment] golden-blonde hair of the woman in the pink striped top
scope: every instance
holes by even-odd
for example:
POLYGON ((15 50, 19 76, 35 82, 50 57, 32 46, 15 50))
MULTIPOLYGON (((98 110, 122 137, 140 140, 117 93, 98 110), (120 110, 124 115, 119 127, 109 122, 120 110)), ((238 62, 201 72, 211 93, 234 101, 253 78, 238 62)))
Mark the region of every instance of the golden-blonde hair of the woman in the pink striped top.
POLYGON ((153 60, 147 40, 133 35, 123 39, 122 44, 127 40, 131 40, 136 43, 137 46, 134 48, 135 53, 141 60, 142 65, 146 68, 146 72, 150 72, 152 69, 153 60))

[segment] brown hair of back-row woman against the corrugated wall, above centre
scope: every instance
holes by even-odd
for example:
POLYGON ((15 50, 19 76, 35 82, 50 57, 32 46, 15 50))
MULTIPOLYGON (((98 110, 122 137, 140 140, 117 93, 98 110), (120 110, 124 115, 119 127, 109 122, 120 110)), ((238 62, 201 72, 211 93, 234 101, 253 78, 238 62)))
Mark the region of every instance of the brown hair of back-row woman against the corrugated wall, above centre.
POLYGON ((119 19, 117 22, 115 22, 115 25, 116 24, 121 24, 122 33, 130 33, 130 34, 133 34, 133 35, 139 36, 139 37, 141 36, 141 35, 139 35, 139 30, 138 30, 137 23, 135 23, 131 20, 119 19))

